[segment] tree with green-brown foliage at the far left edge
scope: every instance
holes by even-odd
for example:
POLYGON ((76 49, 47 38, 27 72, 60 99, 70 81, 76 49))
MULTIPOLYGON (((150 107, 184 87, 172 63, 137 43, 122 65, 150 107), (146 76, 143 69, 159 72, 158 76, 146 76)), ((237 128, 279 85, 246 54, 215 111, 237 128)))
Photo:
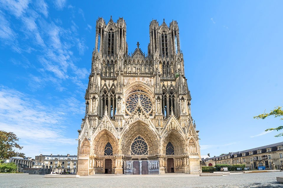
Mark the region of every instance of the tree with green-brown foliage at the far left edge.
POLYGON ((19 138, 13 132, 0 130, 0 162, 10 157, 24 157, 24 153, 16 152, 14 148, 21 150, 23 147, 17 144, 19 138))

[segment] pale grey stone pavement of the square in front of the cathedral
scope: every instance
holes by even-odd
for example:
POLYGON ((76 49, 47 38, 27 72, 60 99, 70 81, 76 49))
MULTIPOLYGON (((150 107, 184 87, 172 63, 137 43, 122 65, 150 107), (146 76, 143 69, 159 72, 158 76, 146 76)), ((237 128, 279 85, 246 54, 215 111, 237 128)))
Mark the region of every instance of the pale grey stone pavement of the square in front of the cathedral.
POLYGON ((1 188, 92 188, 92 187, 193 187, 193 188, 283 188, 276 177, 283 172, 194 176, 190 174, 112 175, 80 178, 44 178, 43 175, 2 175, 1 188))

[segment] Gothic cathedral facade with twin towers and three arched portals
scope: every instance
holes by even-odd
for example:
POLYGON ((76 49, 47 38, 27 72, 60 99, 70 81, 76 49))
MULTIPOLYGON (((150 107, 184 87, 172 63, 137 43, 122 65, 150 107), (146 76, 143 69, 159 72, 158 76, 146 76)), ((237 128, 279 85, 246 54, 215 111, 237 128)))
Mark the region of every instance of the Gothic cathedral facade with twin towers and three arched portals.
POLYGON ((77 174, 199 174, 177 21, 152 20, 149 39, 129 54, 124 19, 96 21, 77 174))

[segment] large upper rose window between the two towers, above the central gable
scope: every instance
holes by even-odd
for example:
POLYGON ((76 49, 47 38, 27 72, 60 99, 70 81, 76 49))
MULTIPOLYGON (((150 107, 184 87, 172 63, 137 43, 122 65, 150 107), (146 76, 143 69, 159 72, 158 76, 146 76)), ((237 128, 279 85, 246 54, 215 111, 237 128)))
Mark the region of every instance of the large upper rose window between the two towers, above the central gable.
POLYGON ((129 113, 132 113, 137 106, 141 106, 146 113, 150 113, 152 110, 152 101, 146 93, 134 92, 126 100, 126 109, 129 113))

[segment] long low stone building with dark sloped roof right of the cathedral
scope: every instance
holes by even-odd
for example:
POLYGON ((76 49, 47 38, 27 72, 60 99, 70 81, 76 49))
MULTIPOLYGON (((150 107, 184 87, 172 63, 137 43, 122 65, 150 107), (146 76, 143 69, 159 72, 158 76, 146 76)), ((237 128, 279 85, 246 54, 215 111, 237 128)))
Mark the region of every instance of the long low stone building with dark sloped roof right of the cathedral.
POLYGON ((256 147, 249 150, 230 152, 221 156, 214 156, 203 160, 203 166, 209 164, 246 164, 250 169, 264 166, 266 169, 282 169, 283 142, 256 147))

